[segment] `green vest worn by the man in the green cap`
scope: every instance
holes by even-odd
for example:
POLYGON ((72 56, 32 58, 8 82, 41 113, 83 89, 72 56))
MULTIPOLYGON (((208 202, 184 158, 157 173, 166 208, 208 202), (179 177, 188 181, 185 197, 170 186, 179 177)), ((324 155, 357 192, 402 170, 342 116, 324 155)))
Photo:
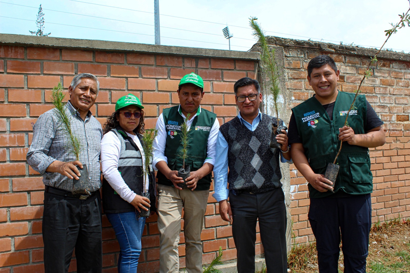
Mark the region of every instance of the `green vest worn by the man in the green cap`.
MULTIPOLYGON (((164 155, 168 160, 168 167, 173 171, 178 171, 182 167, 181 154, 181 124, 184 123, 179 105, 164 109, 164 124, 166 129, 166 144, 164 155)), ((205 109, 198 108, 194 121, 189 130, 188 158, 185 165, 189 165, 191 171, 196 171, 203 166, 207 158, 207 144, 211 128, 215 123, 216 114, 205 109)), ((173 186, 171 180, 167 179, 160 171, 157 173, 158 184, 173 186)), ((211 185, 211 174, 205 175, 198 180, 195 190, 208 190, 211 185)))

